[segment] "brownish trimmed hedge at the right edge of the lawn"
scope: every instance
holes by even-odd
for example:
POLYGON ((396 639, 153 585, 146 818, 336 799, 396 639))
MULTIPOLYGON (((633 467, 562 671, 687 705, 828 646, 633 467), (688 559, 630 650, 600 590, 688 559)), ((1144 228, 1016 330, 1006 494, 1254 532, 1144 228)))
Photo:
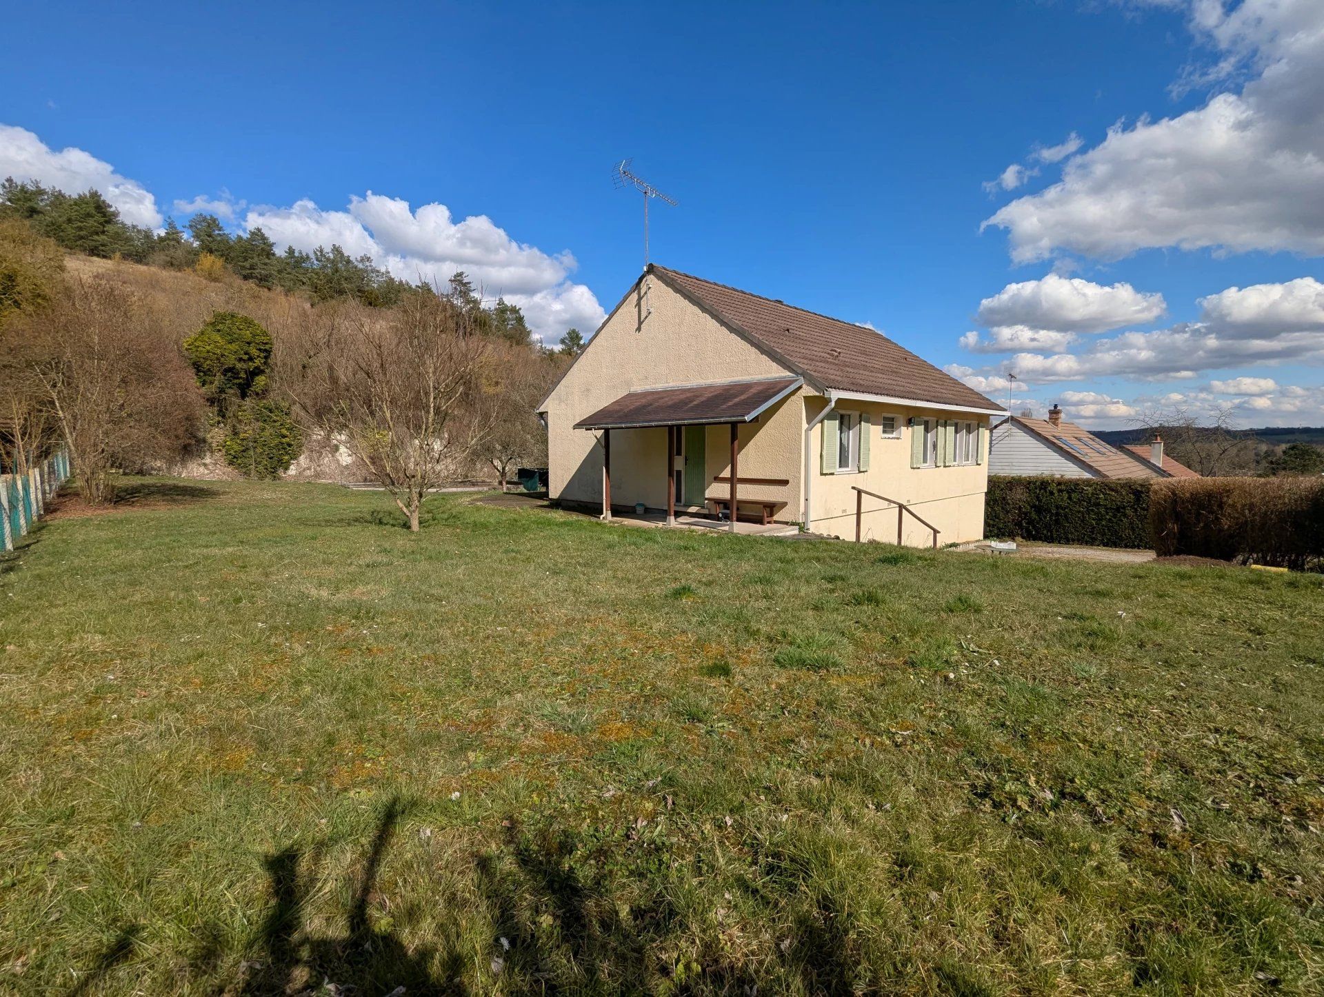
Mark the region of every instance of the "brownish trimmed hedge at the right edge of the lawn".
POLYGON ((1324 478, 1155 482, 1151 528, 1160 556, 1324 571, 1324 478))

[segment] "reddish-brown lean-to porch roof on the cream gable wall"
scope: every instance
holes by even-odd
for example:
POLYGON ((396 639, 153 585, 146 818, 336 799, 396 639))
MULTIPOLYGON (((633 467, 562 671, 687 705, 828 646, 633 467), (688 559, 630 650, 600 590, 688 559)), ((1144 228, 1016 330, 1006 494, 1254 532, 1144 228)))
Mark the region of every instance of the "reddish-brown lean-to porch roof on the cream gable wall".
POLYGON ((575 424, 576 429, 752 422, 804 384, 801 377, 765 377, 722 384, 674 384, 632 391, 575 424))

